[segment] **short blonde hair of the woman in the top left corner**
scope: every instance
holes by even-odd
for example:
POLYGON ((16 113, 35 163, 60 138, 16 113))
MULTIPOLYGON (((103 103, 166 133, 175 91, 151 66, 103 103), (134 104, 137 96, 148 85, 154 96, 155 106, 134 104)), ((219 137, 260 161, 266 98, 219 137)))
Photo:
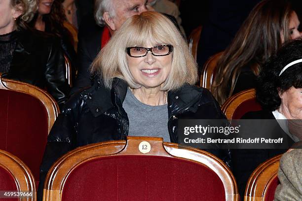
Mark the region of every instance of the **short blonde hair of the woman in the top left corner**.
POLYGON ((16 19, 17 29, 27 28, 26 23, 29 23, 38 9, 37 0, 10 0, 13 8, 20 10, 22 14, 16 19))

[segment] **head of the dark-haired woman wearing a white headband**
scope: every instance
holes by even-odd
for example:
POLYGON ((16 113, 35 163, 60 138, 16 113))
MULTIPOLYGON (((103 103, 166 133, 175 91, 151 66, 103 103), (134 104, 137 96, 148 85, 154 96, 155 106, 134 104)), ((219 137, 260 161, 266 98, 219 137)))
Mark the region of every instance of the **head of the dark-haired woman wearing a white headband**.
POLYGON ((257 98, 275 119, 302 119, 302 40, 285 44, 264 65, 257 98))

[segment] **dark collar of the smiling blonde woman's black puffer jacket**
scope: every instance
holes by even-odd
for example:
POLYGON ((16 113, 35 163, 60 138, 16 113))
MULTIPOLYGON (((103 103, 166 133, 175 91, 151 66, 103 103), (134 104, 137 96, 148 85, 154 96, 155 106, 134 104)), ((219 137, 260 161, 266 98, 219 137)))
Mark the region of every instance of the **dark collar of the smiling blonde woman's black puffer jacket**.
MULTIPOLYGON (((90 89, 83 91, 81 95, 86 100, 93 116, 97 117, 111 109, 115 104, 122 104, 126 97, 127 87, 128 84, 124 80, 114 78, 110 90, 104 86, 102 81, 98 80, 90 89), (113 105, 114 101, 117 102, 113 105)), ((169 116, 187 109, 196 112, 202 92, 203 88, 189 84, 183 85, 178 90, 170 91, 168 93, 169 116)))

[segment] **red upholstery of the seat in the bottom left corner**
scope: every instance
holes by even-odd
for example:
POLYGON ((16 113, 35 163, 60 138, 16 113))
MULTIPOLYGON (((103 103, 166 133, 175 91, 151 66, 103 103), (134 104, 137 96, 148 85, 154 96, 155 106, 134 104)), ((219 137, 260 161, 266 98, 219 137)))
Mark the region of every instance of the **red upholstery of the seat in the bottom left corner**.
MULTIPOLYGON (((17 191, 16 182, 6 169, 0 166, 0 191, 17 191)), ((4 199, 0 198, 0 201, 18 201, 19 199, 4 199)))

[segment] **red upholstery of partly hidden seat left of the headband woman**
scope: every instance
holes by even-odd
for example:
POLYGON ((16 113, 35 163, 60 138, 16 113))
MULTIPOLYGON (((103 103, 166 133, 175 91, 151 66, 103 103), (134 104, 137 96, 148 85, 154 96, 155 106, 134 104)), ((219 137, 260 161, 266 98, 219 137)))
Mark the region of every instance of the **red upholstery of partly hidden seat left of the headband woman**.
POLYGON ((250 111, 259 111, 261 109, 261 105, 256 101, 256 99, 246 100, 238 105, 234 111, 232 119, 241 119, 245 113, 250 111))

